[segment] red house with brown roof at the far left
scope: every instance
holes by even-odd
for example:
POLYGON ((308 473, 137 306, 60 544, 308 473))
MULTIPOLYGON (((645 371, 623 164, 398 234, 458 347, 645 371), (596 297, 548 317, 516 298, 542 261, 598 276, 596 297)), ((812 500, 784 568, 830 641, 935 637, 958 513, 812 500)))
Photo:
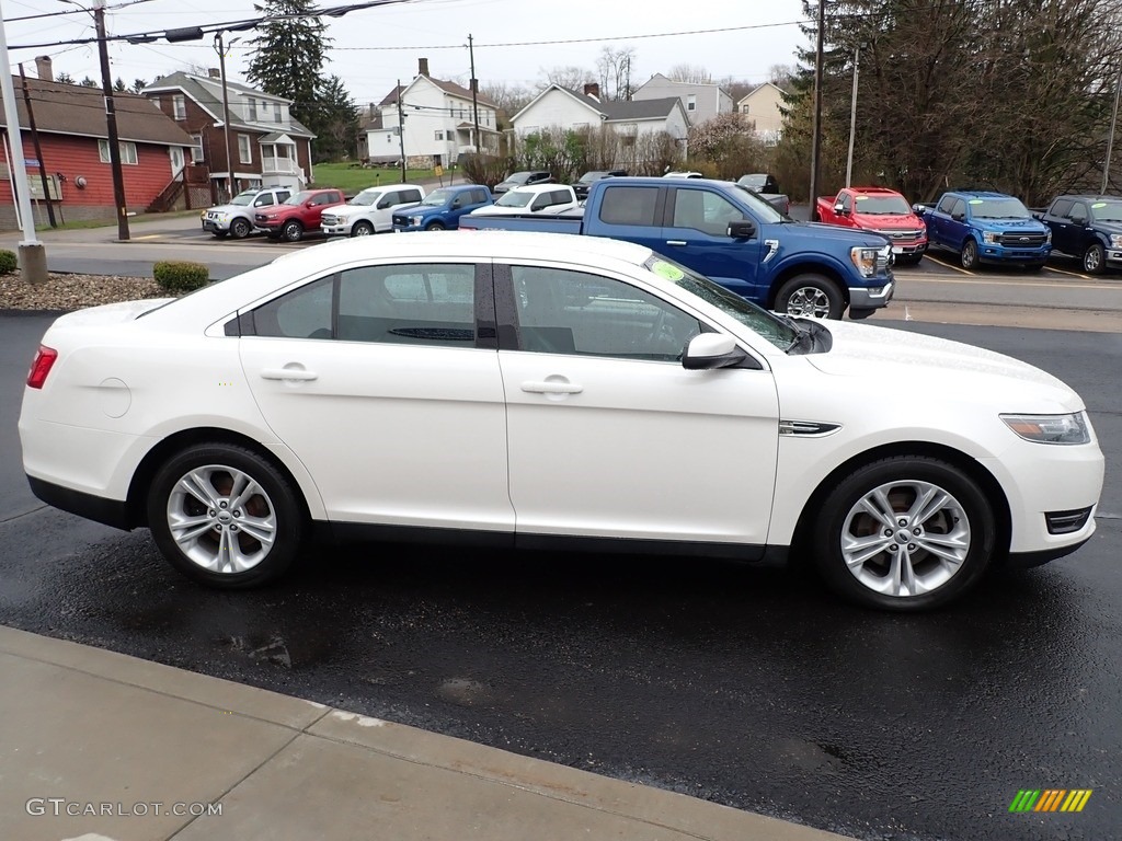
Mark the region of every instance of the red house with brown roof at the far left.
MULTIPOLYGON (((61 84, 50 80, 49 59, 36 59, 39 78, 28 78, 31 112, 39 135, 43 159, 31 142, 22 81, 13 78, 20 135, 30 182, 36 225, 46 223, 40 169, 47 174, 55 218, 112 220, 116 218, 112 168, 105 104, 99 87, 61 84)), ((121 172, 128 212, 142 213, 154 205, 185 206, 184 161, 191 138, 145 96, 114 93, 121 172)), ((0 158, 0 230, 16 230, 11 158, 8 144, 13 132, 3 127, 4 156, 0 158)), ((167 210, 160 206, 159 210, 167 210)))

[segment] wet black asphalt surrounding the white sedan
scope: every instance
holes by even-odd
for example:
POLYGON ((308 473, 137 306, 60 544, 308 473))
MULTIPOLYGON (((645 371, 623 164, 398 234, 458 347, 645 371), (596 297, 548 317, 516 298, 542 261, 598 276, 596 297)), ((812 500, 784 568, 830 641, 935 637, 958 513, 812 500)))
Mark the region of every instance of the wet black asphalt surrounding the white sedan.
POLYGON ((1109 473, 1076 555, 898 617, 727 563, 389 545, 201 590, 147 532, 27 492, 15 419, 45 324, 0 317, 0 623, 856 838, 1120 837, 1119 336, 900 325, 1066 379, 1109 473), (1094 794, 1078 814, 1010 814, 1021 788, 1094 794))

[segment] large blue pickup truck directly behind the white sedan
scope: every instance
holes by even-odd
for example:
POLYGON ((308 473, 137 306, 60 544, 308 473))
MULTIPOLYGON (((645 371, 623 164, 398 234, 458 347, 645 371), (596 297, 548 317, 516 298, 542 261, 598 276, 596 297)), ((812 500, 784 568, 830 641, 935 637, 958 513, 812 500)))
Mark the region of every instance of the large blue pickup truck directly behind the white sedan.
POLYGON ((606 178, 582 210, 463 216, 461 230, 610 237, 646 246, 789 315, 864 318, 892 299, 892 248, 875 233, 795 222, 751 190, 703 178, 606 178))

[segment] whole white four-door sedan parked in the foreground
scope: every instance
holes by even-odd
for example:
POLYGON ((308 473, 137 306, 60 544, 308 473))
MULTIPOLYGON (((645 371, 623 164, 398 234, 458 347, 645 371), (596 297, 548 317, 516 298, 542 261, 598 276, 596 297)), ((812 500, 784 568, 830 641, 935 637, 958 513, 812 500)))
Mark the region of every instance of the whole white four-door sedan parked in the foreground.
POLYGON ((1037 368, 772 315, 640 246, 505 231, 347 240, 64 315, 19 431, 40 499, 147 526, 228 588, 314 529, 798 555, 917 610, 1076 549, 1103 482, 1083 400, 1037 368))

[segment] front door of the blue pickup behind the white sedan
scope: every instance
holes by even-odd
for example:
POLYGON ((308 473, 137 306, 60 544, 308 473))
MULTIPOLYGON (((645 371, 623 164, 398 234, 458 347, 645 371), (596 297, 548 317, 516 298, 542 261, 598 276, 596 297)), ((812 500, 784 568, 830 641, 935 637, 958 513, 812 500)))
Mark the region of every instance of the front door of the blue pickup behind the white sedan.
POLYGON ((655 249, 706 275, 737 295, 761 301, 757 288, 762 253, 758 232, 748 239, 728 235, 729 222, 748 218, 728 198, 703 185, 682 184, 669 191, 661 248, 655 249))

